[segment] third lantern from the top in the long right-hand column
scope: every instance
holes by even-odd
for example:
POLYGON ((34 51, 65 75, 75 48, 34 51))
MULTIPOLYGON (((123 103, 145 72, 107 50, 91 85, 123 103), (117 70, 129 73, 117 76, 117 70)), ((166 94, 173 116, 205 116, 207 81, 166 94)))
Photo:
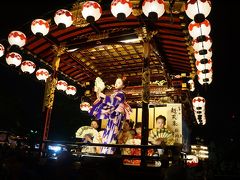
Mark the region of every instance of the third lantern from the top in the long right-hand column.
POLYGON ((212 39, 210 36, 201 36, 203 39, 194 39, 192 41, 192 47, 195 51, 200 51, 202 49, 210 49, 212 47, 212 39))

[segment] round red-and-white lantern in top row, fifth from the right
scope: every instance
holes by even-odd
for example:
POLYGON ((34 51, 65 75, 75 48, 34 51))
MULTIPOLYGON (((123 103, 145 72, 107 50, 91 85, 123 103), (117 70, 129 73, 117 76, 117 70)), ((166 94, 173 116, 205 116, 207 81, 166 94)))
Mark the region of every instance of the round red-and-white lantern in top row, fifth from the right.
POLYGON ((59 9, 54 15, 54 22, 60 28, 67 28, 73 23, 73 15, 66 9, 59 9))

